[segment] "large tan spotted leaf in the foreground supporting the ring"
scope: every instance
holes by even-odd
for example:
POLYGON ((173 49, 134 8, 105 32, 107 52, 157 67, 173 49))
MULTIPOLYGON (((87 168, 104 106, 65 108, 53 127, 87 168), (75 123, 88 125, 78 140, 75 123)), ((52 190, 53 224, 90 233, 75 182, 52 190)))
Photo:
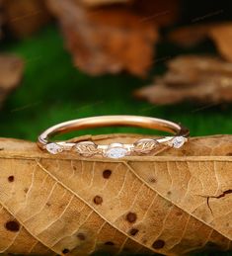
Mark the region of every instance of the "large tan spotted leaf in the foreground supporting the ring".
MULTIPOLYGON (((131 143, 138 136, 93 137, 131 143)), ((232 249, 232 136, 195 137, 159 156, 50 155, 0 139, 0 250, 183 255, 232 249)))

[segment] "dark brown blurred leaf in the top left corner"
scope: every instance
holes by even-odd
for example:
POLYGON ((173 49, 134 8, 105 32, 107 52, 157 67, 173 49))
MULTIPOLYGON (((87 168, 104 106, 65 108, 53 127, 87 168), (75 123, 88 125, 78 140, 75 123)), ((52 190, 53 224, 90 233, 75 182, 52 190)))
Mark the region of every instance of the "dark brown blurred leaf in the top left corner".
POLYGON ((6 24, 14 36, 25 38, 50 20, 45 0, 4 0, 6 24))

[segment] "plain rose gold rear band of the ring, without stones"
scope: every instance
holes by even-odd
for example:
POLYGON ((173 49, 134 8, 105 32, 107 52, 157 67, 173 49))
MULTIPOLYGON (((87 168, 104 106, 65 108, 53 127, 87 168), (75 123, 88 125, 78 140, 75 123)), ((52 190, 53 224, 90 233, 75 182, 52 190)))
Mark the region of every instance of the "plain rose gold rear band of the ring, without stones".
POLYGON ((175 135, 188 136, 189 130, 166 120, 139 116, 99 116, 64 122, 44 130, 39 135, 39 146, 49 142, 54 135, 73 130, 102 127, 137 127, 168 131, 175 135))

